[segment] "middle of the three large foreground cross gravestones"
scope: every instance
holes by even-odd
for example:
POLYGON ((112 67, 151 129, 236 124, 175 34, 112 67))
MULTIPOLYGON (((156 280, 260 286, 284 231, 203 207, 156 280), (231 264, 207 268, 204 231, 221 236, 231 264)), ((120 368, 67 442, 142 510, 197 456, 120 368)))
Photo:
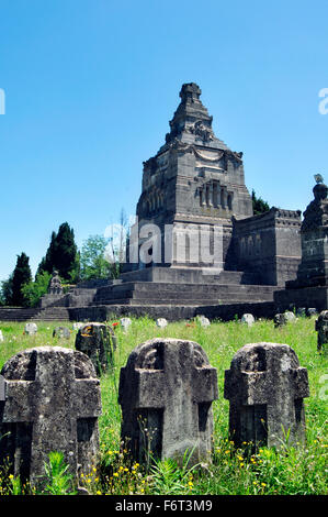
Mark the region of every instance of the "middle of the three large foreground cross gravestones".
POLYGON ((194 448, 190 464, 210 460, 216 398, 216 369, 197 343, 142 343, 121 370, 122 439, 139 462, 149 450, 155 458, 182 462, 185 451, 194 448))

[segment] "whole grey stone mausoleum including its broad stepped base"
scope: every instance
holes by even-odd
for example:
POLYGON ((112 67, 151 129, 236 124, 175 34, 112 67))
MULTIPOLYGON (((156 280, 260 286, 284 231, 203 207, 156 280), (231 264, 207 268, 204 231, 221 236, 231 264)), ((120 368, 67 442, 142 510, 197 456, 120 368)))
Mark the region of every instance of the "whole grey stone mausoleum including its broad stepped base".
POLYGON ((53 306, 48 297, 42 318, 271 317, 293 304, 285 285, 304 284, 301 223, 298 210, 253 215, 242 153, 214 134, 200 87, 184 84, 163 145, 144 162, 121 277, 79 284, 53 306))

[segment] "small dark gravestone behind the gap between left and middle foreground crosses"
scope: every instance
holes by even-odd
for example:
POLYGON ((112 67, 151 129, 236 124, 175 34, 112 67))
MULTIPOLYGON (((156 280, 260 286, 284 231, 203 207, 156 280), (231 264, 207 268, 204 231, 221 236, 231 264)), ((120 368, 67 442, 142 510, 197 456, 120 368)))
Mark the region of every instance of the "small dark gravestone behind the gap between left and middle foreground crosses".
POLYGON ((113 329, 104 323, 87 323, 79 329, 76 337, 76 349, 91 359, 98 375, 112 364, 115 348, 116 336, 113 329))

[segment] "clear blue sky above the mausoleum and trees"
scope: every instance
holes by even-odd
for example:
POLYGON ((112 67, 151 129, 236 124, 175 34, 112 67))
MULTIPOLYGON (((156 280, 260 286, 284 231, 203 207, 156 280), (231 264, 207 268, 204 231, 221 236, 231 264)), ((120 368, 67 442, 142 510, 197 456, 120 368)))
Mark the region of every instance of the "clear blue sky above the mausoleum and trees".
POLYGON ((327 20, 327 0, 0 0, 0 279, 61 222, 80 246, 135 213, 183 82, 249 190, 304 210, 328 180, 327 20))

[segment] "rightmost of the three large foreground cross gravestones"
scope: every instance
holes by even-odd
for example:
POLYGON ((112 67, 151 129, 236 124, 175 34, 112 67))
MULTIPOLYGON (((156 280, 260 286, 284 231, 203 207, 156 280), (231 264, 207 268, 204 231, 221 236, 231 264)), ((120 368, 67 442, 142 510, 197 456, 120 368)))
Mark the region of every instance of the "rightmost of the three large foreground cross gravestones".
POLYGON ((246 344, 225 372, 230 402, 229 435, 236 447, 281 447, 305 440, 303 399, 309 396, 307 370, 287 344, 246 344))

